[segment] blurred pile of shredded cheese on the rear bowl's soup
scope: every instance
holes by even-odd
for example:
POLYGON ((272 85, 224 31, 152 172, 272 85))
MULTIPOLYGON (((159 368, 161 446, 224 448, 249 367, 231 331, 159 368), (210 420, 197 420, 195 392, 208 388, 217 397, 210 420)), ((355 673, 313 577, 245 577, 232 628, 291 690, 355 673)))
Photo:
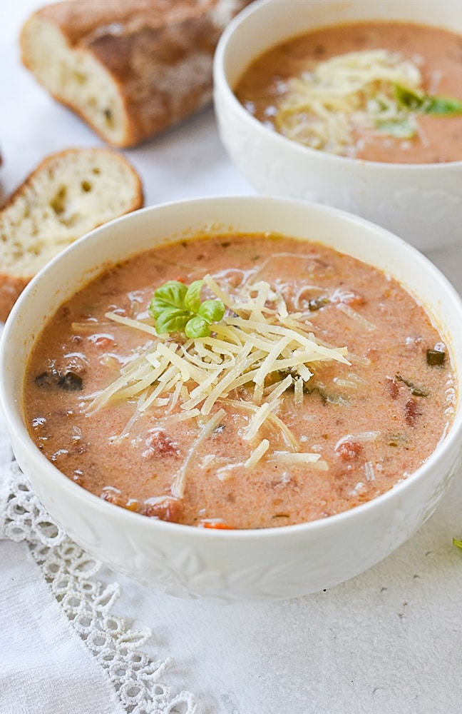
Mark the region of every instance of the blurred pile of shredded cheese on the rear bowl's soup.
POLYGON ((397 52, 349 52, 289 79, 274 124, 289 139, 331 154, 353 149, 354 129, 410 138, 416 124, 394 86, 418 91, 421 84, 419 67, 397 52))

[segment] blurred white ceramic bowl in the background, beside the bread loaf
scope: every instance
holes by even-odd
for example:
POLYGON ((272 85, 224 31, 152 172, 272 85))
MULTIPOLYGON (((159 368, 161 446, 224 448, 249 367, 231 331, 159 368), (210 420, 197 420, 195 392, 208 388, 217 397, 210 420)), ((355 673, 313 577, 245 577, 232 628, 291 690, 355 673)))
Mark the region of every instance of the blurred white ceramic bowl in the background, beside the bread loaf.
POLYGON ((462 34, 454 0, 263 0, 227 27, 215 54, 215 111, 222 143, 257 191, 343 208, 379 223, 422 251, 460 241, 462 161, 380 164, 315 151, 277 134, 233 89, 265 50, 320 26, 386 19, 435 24, 462 34))

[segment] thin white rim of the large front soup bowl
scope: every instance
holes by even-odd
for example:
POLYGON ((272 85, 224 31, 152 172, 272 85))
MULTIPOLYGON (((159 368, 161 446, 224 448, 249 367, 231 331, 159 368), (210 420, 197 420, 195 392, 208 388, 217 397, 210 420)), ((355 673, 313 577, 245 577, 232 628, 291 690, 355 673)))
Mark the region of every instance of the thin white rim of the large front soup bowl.
MULTIPOLYGON (((18 301, 16 301, 14 308, 12 309, 11 313, 9 314, 9 317, 6 320, 4 330, 0 338, 0 410, 3 411, 6 428, 11 437, 11 442, 13 443, 14 448, 16 444, 19 443, 21 448, 26 449, 30 457, 29 466, 37 466, 37 468, 41 468, 41 470, 44 470, 49 480, 49 486, 52 487, 53 483, 56 483, 61 490, 66 492, 66 496, 68 496, 68 498, 77 499, 78 501, 82 502, 83 504, 87 504, 89 507, 91 507, 91 509, 94 509, 96 511, 101 510, 102 513, 106 513, 106 516, 111 517, 112 514, 112 518, 115 518, 116 521, 120 521, 120 523, 126 522, 128 524, 133 524, 134 526, 136 526, 137 524, 138 526, 141 526, 141 524, 144 523, 145 525, 142 526, 143 528, 150 528, 154 529, 155 531, 158 531, 158 529, 160 529, 160 533, 165 532, 176 535, 188 535, 189 538, 194 538, 195 540, 202 540, 203 538, 219 541, 240 539, 261 540, 262 538, 281 538, 284 536, 288 537, 292 535, 296 537, 297 535, 299 535, 299 533, 307 533, 307 535, 314 533, 323 533, 326 529, 329 530, 329 528, 336 528, 344 522, 348 523, 351 518, 358 519, 361 518, 361 516, 363 515, 366 516, 370 511, 380 511, 381 508, 386 508, 386 505, 387 503, 389 503, 389 501, 400 501, 401 494, 404 494, 406 493, 406 491, 409 491, 409 489, 414 487, 414 483, 416 481, 420 481, 422 478, 424 478, 425 474, 428 471, 431 471, 438 464, 438 461, 441 459, 441 456, 443 456, 444 453, 446 453, 447 451, 451 451, 451 449, 454 448, 458 449, 458 453, 461 452, 462 377, 459 377, 456 365, 453 365, 453 368, 456 371, 458 381, 458 396, 456 403, 456 413, 453 418, 453 422, 451 423, 451 426, 446 436, 442 436, 440 438, 430 456, 428 456, 426 461, 424 461, 424 463, 421 464, 421 466, 419 466, 416 471, 412 472, 407 478, 404 478, 398 483, 395 483, 394 486, 391 486, 389 491, 386 491, 385 493, 382 493, 381 495, 376 496, 375 498, 371 498, 371 500, 367 501, 366 503, 361 503, 359 504, 359 506, 349 508, 347 511, 335 513, 334 515, 329 516, 328 518, 318 518, 315 521, 297 523, 292 526, 270 526, 269 528, 214 529, 186 526, 182 523, 170 523, 166 521, 161 521, 160 519, 146 518, 145 516, 140 516, 139 513, 133 513, 125 508, 121 508, 120 506, 114 506, 114 504, 104 501, 102 498, 96 496, 90 491, 87 491, 82 486, 79 486, 77 483, 71 481, 71 479, 68 478, 63 472, 61 472, 56 466, 54 466, 51 461, 48 461, 48 458, 46 458, 46 456, 44 456, 43 453, 39 451, 39 448, 36 446, 31 436, 29 435, 29 431, 27 430, 26 425, 24 423, 24 415, 22 414, 21 407, 23 397, 22 388, 24 388, 24 383, 21 384, 21 393, 19 395, 16 394, 16 400, 12 400, 11 403, 9 401, 8 387, 6 385, 5 377, 9 365, 9 360, 14 358, 14 353, 11 350, 9 354, 9 343, 11 341, 12 336, 14 336, 16 321, 17 318, 21 315, 23 303, 27 303, 27 301, 31 299, 31 295, 36 292, 37 288, 40 290, 41 283, 46 283, 48 278, 48 270, 56 265, 59 265, 62 260, 61 256, 69 256, 76 251, 82 251, 83 246, 86 246, 87 243, 91 243, 91 241, 93 240, 107 241, 108 245, 110 245, 111 231, 113 226, 123 225, 124 223, 127 223, 129 225, 131 222, 137 220, 140 214, 149 215, 150 213, 156 213, 156 211, 161 211, 165 208, 173 206, 188 206, 190 204, 199 203, 220 203, 222 201, 228 201, 231 203, 235 201, 244 201, 246 203, 267 203, 267 201, 272 201, 287 207, 290 207, 291 205, 306 207, 309 211, 314 211, 315 213, 320 214, 324 213, 327 214, 327 216, 337 216, 341 221, 359 223, 366 229, 373 229, 376 232, 378 231, 385 238, 387 238, 388 241, 391 241, 392 243, 401 243, 405 247, 405 249, 408 250, 409 253, 411 253, 411 255, 416 258, 416 260, 420 261, 420 263, 427 270, 433 273, 439 283, 441 283, 441 286, 447 293, 448 298, 453 302, 453 304, 458 307, 462 315, 462 297, 458 294, 456 288, 452 286, 451 282, 448 281, 448 278, 446 278, 446 276, 444 276, 444 274, 439 270, 439 268, 437 268, 428 258, 426 258, 426 256, 424 256, 420 251, 414 248, 414 246, 411 246, 411 244, 406 243, 406 241, 403 241, 401 238, 399 238, 399 236, 396 236, 394 233, 391 233, 391 231, 387 230, 386 228, 383 228, 382 226, 379 226, 378 224, 373 223, 372 221, 368 221, 365 218, 356 216, 353 213, 343 211, 342 209, 315 203, 313 201, 304 201, 298 198, 283 198, 279 196, 259 195, 243 196, 240 194, 181 198, 179 200, 165 201, 164 203, 158 203, 153 206, 145 206, 145 208, 140 208, 136 211, 132 211, 131 213, 125 214, 124 216, 114 218, 112 221, 104 223, 103 226, 98 226, 98 228, 95 228, 93 229, 93 231, 86 233, 85 236, 78 238, 77 241, 72 243, 70 246, 67 246, 63 251, 61 251, 61 253, 58 253, 57 256, 55 256, 51 261, 49 261, 46 266, 42 268, 41 271, 39 271, 39 273, 36 274, 36 276, 31 280, 31 282, 26 286, 26 288, 24 288, 24 291, 19 296, 18 301)), ((304 238, 302 238, 302 240, 304 240, 304 238)), ((336 249, 339 250, 338 248, 336 249)), ((139 253, 142 251, 130 251, 130 247, 128 246, 126 255, 127 257, 129 257, 136 254, 136 252, 139 253)), ((345 252, 348 254, 347 251, 345 252)), ((88 255, 91 255, 91 251, 87 251, 87 253, 88 255)), ((103 272, 106 267, 111 264, 111 262, 112 258, 108 261, 107 264, 103 266, 101 272, 103 272)), ((85 283, 82 283, 82 285, 84 284, 85 283)), ((34 337, 34 341, 35 339, 36 336, 34 337)), ((462 375, 462 361, 460 372, 462 375)), ((20 457, 18 459, 19 466, 21 466, 21 461, 22 459, 20 457)), ((26 471, 25 474, 26 476, 28 476, 28 473, 26 471)), ((58 521, 58 518, 56 518, 56 520, 58 521)), ((66 530, 65 526, 64 530, 66 530)))

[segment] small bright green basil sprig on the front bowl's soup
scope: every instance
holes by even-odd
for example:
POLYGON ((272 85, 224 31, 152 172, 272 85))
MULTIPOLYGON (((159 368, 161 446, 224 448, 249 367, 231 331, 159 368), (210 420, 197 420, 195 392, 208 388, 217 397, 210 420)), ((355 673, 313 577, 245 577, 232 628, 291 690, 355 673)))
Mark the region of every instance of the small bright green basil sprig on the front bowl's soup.
POLYGON ((157 288, 148 309, 158 334, 183 332, 190 338, 210 335, 210 325, 222 320, 225 305, 221 300, 201 301, 203 284, 203 280, 195 280, 185 286, 169 280, 157 288))

